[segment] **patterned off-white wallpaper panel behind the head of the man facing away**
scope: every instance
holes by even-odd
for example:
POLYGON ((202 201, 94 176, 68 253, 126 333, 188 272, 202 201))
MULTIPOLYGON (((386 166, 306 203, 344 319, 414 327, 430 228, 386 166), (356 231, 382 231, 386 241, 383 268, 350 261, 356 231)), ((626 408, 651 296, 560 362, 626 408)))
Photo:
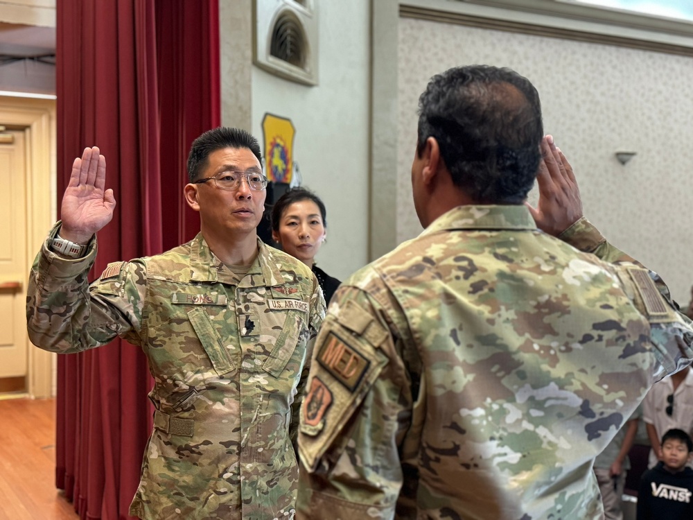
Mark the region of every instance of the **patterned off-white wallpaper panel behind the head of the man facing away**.
MULTIPOLYGON (((693 58, 401 18, 397 239, 421 232, 410 174, 419 94, 462 64, 511 67, 539 92, 544 131, 574 167, 586 216, 656 270, 674 299, 693 285, 693 58), (622 166, 617 151, 637 155, 622 166)), ((536 190, 530 202, 536 201, 536 190)))

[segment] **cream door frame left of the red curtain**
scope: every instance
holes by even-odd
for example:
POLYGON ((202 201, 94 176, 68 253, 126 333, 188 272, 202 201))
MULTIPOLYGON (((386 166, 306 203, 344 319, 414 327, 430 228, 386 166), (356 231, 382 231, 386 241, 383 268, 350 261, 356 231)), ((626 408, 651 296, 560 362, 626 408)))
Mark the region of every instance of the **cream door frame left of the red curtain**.
MULTIPOLYGON (((26 257, 32 260, 58 213, 55 115, 53 99, 0 96, 0 124, 24 128, 26 137, 26 257)), ((29 347, 26 385, 30 397, 55 395, 56 364, 55 354, 29 347)))

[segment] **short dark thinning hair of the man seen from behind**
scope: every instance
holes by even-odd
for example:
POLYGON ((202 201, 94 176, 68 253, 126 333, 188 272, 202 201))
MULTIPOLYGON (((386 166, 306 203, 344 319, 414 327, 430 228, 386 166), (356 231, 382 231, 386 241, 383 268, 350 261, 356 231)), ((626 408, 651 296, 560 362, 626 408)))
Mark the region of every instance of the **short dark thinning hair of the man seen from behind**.
POLYGON ((520 204, 541 159, 539 95, 511 69, 449 69, 419 98, 419 156, 428 137, 438 142, 453 183, 475 202, 520 204))

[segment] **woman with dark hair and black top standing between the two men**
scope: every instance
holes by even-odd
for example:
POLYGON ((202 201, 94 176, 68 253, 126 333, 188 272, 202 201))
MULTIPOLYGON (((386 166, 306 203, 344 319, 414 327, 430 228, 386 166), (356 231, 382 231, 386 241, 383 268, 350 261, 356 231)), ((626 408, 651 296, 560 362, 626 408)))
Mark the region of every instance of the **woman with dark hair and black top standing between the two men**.
POLYGON ((341 282, 315 265, 315 255, 327 238, 326 228, 325 205, 305 188, 290 189, 272 207, 272 239, 313 270, 329 303, 341 282))

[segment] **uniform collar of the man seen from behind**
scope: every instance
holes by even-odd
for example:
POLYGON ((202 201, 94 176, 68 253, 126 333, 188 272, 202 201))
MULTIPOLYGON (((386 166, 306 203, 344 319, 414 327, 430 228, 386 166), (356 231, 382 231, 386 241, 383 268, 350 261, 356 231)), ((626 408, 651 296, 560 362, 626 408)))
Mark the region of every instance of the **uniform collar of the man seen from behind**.
POLYGON ((434 220, 422 235, 451 229, 536 229, 524 205, 457 206, 434 220))

